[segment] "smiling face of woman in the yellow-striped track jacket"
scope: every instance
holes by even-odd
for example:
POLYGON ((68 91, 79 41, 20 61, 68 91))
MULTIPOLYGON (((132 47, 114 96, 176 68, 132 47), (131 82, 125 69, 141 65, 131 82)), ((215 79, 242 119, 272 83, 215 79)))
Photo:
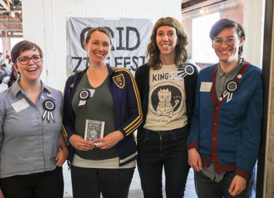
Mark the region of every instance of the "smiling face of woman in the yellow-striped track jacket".
POLYGON ((105 64, 105 59, 110 52, 110 38, 108 38, 105 33, 101 31, 92 32, 90 40, 88 40, 88 43, 84 42, 84 46, 88 52, 91 66, 101 66, 105 64))

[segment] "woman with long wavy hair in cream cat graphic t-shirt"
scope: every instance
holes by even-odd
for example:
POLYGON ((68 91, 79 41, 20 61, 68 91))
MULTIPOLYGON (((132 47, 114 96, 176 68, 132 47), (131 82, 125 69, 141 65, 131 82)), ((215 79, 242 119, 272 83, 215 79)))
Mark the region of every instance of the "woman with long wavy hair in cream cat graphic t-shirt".
POLYGON ((181 23, 160 18, 147 46, 148 63, 136 71, 144 119, 138 128, 138 171, 144 197, 184 197, 189 165, 186 139, 195 100, 197 68, 187 62, 181 23))

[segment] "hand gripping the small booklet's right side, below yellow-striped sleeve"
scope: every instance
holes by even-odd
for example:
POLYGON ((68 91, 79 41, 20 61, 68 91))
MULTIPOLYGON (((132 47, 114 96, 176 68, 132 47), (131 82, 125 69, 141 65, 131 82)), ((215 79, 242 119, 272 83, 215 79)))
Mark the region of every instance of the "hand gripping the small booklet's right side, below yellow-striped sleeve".
POLYGON ((119 143, 119 141, 121 141, 123 138, 124 138, 123 133, 119 130, 116 130, 114 132, 110 132, 108 135, 106 135, 103 138, 96 139, 94 143, 100 143, 98 145, 95 145, 95 147, 98 147, 101 150, 108 150, 114 147, 114 145, 119 143))

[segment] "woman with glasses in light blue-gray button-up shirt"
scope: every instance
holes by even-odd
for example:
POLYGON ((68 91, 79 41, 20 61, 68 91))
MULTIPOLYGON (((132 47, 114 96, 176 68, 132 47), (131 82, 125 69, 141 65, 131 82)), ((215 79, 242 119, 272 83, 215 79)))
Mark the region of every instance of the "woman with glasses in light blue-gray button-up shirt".
POLYGON ((40 80, 40 47, 27 40, 12 48, 21 74, 0 94, 0 188, 5 198, 62 198, 62 165, 69 155, 60 133, 62 93, 40 80))

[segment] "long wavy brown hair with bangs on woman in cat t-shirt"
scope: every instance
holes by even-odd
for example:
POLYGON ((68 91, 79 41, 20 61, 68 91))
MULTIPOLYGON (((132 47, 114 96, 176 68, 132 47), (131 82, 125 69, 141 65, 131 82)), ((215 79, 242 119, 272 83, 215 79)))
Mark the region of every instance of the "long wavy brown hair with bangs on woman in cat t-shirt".
POLYGON ((147 46, 147 58, 149 59, 148 65, 155 70, 162 68, 162 63, 160 61, 160 50, 156 42, 157 30, 162 26, 170 26, 176 29, 178 44, 175 48, 175 65, 178 68, 186 65, 188 60, 188 52, 186 51, 188 36, 186 31, 184 31, 182 24, 172 17, 160 18, 155 23, 149 44, 147 46))

